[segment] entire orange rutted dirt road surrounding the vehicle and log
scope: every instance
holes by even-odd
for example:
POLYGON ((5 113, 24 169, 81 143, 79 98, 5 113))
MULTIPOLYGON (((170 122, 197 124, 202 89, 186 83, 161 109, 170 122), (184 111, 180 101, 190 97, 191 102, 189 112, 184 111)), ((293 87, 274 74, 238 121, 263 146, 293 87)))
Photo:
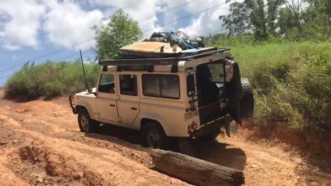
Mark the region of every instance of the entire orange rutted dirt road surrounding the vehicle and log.
MULTIPOLYGON (((64 98, 0 99, 0 185, 188 185, 155 171, 148 152, 137 132, 110 125, 98 134, 79 132, 64 98)), ((245 185, 331 185, 331 174, 279 146, 246 141, 244 130, 195 141, 192 153, 243 169, 245 185)))

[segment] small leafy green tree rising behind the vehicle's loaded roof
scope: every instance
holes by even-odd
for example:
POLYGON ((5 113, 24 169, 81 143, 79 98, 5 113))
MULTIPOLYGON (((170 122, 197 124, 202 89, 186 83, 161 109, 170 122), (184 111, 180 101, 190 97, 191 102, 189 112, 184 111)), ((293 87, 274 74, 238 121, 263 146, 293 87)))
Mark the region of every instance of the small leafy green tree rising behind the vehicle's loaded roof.
MULTIPOLYGON (((101 21, 106 21, 101 19, 101 21)), ((143 32, 137 21, 134 21, 126 12, 119 10, 109 17, 109 22, 96 30, 97 54, 100 59, 110 58, 117 54, 123 45, 129 45, 142 39, 143 32)))

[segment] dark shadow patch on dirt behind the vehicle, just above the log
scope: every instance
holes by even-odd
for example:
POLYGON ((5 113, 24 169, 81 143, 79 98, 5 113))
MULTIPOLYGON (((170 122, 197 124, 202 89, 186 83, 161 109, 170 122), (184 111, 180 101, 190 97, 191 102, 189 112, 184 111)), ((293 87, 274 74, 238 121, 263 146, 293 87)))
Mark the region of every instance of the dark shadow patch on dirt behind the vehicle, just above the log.
POLYGON ((225 167, 243 170, 246 165, 246 155, 242 149, 232 147, 228 143, 193 139, 190 150, 185 152, 189 156, 209 161, 225 167))

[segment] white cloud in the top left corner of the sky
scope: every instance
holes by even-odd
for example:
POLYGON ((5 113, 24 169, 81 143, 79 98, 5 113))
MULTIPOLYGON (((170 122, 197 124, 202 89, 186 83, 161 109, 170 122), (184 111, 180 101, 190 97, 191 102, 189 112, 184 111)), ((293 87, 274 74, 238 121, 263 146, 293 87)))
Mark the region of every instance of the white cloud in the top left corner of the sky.
POLYGON ((43 6, 34 0, 0 1, 0 16, 5 17, 0 27, 2 47, 8 50, 14 45, 37 48, 43 13, 43 6))

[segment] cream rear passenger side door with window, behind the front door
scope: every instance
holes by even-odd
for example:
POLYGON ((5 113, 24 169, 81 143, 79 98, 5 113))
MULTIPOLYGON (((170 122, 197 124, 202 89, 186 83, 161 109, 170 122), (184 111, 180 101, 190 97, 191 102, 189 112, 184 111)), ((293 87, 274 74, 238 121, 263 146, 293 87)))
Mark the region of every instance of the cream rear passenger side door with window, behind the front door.
POLYGON ((119 72, 119 99, 117 109, 119 122, 132 125, 139 114, 138 73, 119 72))

